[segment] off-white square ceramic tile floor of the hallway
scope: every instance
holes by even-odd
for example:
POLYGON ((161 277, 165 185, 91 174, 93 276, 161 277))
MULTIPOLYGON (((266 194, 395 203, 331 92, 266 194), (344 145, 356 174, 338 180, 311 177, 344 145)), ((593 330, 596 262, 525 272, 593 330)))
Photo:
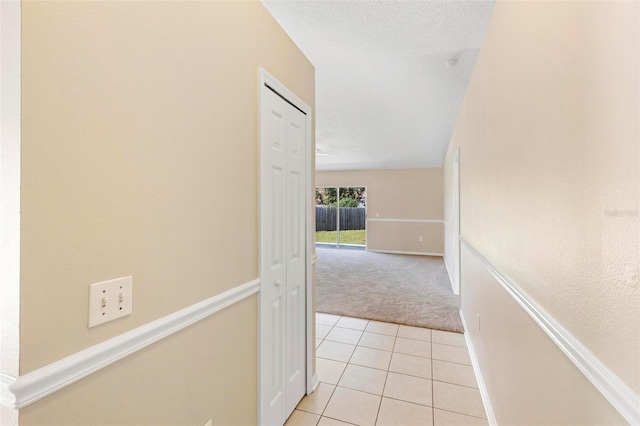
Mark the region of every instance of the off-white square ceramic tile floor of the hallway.
POLYGON ((287 425, 487 425, 464 336, 316 314, 320 385, 287 425))

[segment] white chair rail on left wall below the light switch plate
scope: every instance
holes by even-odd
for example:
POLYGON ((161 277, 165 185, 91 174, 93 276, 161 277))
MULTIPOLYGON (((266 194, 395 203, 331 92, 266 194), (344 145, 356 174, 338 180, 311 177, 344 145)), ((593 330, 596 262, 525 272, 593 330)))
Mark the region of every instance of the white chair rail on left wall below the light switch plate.
MULTIPOLYGON (((21 409, 233 305, 260 289, 255 279, 18 377, 8 385, 21 409)), ((3 377, 3 388, 4 388, 3 377)), ((3 396, 4 401, 4 396, 3 396)))

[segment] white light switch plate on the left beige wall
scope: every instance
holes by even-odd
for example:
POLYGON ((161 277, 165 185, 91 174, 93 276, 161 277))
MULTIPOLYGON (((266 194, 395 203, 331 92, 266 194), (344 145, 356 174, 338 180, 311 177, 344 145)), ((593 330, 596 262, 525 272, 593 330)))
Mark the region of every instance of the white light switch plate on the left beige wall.
POLYGON ((131 314, 133 277, 102 281, 89 286, 89 328, 131 314))

